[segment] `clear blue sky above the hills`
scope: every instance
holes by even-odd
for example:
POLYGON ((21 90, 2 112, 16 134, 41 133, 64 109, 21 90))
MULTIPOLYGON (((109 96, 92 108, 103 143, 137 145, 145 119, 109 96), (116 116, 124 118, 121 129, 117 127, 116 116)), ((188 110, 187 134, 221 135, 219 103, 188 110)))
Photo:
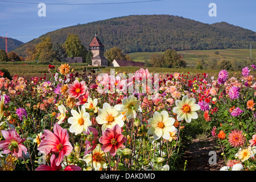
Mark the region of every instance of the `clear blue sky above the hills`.
POLYGON ((145 14, 177 15, 208 24, 228 22, 256 32, 255 8, 255 0, 0 0, 0 36, 5 36, 8 32, 8 37, 26 43, 49 31, 78 23, 145 14), (39 3, 46 4, 45 17, 38 16, 39 3), (92 3, 97 5, 91 5, 92 3), (210 3, 216 3, 217 16, 208 15, 210 3))

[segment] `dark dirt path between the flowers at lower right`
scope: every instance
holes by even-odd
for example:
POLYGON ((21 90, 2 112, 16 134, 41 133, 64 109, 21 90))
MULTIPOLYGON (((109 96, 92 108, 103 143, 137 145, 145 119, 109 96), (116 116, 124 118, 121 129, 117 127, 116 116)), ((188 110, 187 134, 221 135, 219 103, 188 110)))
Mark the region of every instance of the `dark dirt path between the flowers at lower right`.
MULTIPOLYGON (((184 160, 187 160, 186 171, 219 171, 225 166, 222 151, 216 147, 216 142, 212 137, 204 139, 193 139, 188 144, 184 160), (209 164, 210 151, 216 152, 216 164, 209 164)), ((211 158, 212 159, 212 158, 211 158)), ((210 162, 213 160, 210 159, 210 162)))

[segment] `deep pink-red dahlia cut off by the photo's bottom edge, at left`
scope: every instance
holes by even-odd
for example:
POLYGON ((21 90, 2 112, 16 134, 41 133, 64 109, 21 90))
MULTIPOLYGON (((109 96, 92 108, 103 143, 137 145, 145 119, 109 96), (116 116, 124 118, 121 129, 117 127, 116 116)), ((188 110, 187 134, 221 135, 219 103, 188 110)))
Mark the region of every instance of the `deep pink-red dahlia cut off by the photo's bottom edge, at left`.
MULTIPOLYGON (((56 165, 56 156, 52 154, 50 162, 51 166, 47 165, 41 165, 38 168, 36 168, 36 171, 60 171, 62 168, 61 165, 57 166, 56 165)), ((81 171, 81 167, 76 166, 76 165, 69 165, 65 167, 64 171, 81 171)))

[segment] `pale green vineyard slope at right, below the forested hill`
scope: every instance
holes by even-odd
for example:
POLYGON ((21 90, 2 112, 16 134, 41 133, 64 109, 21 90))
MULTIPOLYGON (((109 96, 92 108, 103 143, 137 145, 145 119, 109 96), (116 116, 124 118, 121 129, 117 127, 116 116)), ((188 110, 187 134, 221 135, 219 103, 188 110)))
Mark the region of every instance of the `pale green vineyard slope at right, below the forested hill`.
MULTIPOLYGON (((226 59, 226 60, 249 60, 250 49, 212 49, 212 50, 199 50, 199 51, 177 51, 183 56, 183 59, 187 61, 187 64, 196 64, 197 59, 203 58, 206 62, 209 59, 226 59), (218 55, 216 54, 218 52, 218 55)), ((144 62, 145 60, 150 61, 150 57, 154 53, 163 54, 164 52, 134 52, 130 53, 129 56, 134 61, 144 62)), ((256 49, 251 49, 251 56, 255 60, 256 49)))

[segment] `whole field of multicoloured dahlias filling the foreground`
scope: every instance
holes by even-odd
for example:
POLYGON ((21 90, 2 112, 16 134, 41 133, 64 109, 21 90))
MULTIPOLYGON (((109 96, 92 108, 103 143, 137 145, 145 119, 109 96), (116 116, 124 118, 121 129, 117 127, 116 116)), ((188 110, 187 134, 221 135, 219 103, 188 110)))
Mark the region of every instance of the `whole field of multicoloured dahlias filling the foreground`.
POLYGON ((30 80, 0 72, 1 171, 186 170, 183 131, 199 121, 221 171, 255 168, 255 65, 215 76, 48 67, 30 80))

